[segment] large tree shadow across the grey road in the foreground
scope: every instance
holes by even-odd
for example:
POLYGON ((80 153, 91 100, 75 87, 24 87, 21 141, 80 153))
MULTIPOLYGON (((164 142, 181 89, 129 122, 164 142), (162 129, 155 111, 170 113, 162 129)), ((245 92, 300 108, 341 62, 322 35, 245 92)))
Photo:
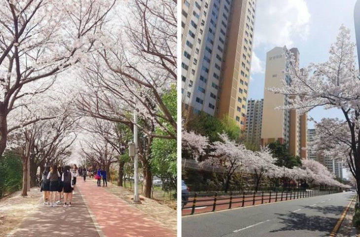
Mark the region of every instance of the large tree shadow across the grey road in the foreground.
POLYGON ((302 213, 288 213, 277 214, 279 215, 280 223, 284 225, 283 228, 270 231, 272 233, 283 231, 314 231, 324 232, 324 235, 319 233, 318 236, 327 237, 329 232, 335 226, 337 218, 324 217, 324 216, 310 216, 302 213))

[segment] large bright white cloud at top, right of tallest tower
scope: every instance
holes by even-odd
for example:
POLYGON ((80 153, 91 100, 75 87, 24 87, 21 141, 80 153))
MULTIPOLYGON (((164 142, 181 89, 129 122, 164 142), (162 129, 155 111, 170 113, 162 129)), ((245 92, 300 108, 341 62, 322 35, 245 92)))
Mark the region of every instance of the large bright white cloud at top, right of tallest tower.
POLYGON ((294 46, 294 39, 307 38, 309 24, 310 12, 305 0, 258 1, 254 46, 294 46))

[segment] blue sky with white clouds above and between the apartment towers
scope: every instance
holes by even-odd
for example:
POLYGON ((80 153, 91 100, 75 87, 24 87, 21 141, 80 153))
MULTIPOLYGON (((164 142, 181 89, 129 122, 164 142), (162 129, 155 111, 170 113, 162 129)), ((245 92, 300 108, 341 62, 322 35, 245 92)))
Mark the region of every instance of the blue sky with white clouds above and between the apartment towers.
MULTIPOLYGON (((266 52, 276 46, 297 47, 300 67, 327 60, 330 44, 342 24, 355 41, 354 5, 356 0, 257 0, 254 51, 249 98, 264 94, 266 52)), ((323 117, 343 118, 337 109, 314 109, 309 113, 316 121, 323 117)), ((308 128, 313 128, 308 122, 308 128)))

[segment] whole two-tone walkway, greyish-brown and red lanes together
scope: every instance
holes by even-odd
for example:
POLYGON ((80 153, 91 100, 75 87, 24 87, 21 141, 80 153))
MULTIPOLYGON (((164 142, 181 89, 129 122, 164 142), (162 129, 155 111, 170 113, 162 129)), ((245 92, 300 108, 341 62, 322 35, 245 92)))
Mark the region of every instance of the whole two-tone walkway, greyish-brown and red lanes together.
POLYGON ((174 230, 94 182, 78 182, 71 207, 43 206, 6 237, 175 237, 174 230), (95 222, 95 223, 94 223, 95 222))

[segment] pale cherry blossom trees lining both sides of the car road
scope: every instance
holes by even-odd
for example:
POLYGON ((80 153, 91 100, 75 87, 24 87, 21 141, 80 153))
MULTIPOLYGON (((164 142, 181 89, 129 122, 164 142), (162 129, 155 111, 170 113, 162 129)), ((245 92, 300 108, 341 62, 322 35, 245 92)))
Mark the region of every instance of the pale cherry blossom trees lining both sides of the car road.
MULTIPOLYGON (((269 91, 288 96, 289 105, 276 109, 297 109, 300 113, 323 106, 325 109, 337 108, 343 119, 323 118, 314 121, 317 137, 309 148, 323 155, 348 164, 360 185, 360 76, 356 67, 355 44, 350 41, 350 32, 340 28, 337 41, 331 45, 328 61, 299 68, 294 56, 284 48, 288 67, 285 73, 291 83, 283 82, 282 88, 267 88, 269 91)), ((302 160, 300 167, 288 169, 275 165, 274 158, 267 147, 259 151, 246 149, 245 145, 232 141, 226 134, 220 141, 209 142, 208 137, 193 131, 182 131, 182 149, 197 160, 207 153, 208 159, 201 164, 211 164, 226 170, 225 191, 236 172, 255 176, 257 191, 263 177, 292 180, 306 180, 317 185, 349 188, 335 180, 334 175, 322 164, 314 160, 302 160), (210 152, 209 152, 210 151, 210 152)), ((359 195, 359 191, 358 191, 359 195)))

